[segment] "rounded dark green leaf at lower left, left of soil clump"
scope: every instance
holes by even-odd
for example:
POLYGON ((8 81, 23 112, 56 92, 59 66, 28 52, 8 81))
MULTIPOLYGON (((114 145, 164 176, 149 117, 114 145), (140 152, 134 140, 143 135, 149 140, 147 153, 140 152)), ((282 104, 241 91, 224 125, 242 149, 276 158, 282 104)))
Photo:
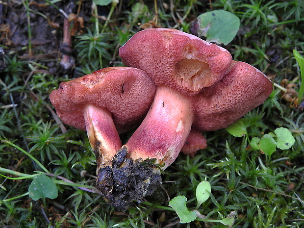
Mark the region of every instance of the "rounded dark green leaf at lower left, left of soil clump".
POLYGON ((47 177, 44 174, 41 174, 37 178, 33 179, 29 185, 28 192, 29 197, 34 201, 37 201, 40 198, 55 199, 58 196, 56 184, 54 184, 50 177, 47 177))

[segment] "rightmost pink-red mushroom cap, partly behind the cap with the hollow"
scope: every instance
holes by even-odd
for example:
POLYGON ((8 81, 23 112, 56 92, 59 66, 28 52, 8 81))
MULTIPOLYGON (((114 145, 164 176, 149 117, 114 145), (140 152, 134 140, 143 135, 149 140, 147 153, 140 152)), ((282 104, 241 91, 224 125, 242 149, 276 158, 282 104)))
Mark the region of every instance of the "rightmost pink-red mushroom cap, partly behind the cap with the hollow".
POLYGON ((271 80, 262 72, 247 63, 233 61, 222 80, 196 96, 193 126, 202 131, 227 127, 262 104, 272 91, 271 80))

